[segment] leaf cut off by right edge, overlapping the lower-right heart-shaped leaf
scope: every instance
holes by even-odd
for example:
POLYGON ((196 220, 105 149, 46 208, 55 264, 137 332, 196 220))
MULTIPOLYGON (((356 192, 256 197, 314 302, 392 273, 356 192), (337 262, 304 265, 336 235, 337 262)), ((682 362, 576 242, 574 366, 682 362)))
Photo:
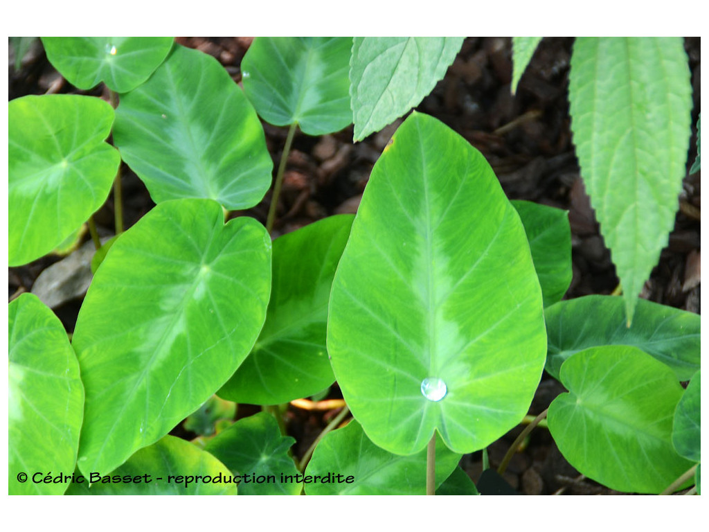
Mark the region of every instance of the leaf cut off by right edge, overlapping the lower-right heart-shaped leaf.
POLYGON ((701 458, 701 372, 696 372, 674 413, 672 444, 681 456, 698 462, 701 458))

